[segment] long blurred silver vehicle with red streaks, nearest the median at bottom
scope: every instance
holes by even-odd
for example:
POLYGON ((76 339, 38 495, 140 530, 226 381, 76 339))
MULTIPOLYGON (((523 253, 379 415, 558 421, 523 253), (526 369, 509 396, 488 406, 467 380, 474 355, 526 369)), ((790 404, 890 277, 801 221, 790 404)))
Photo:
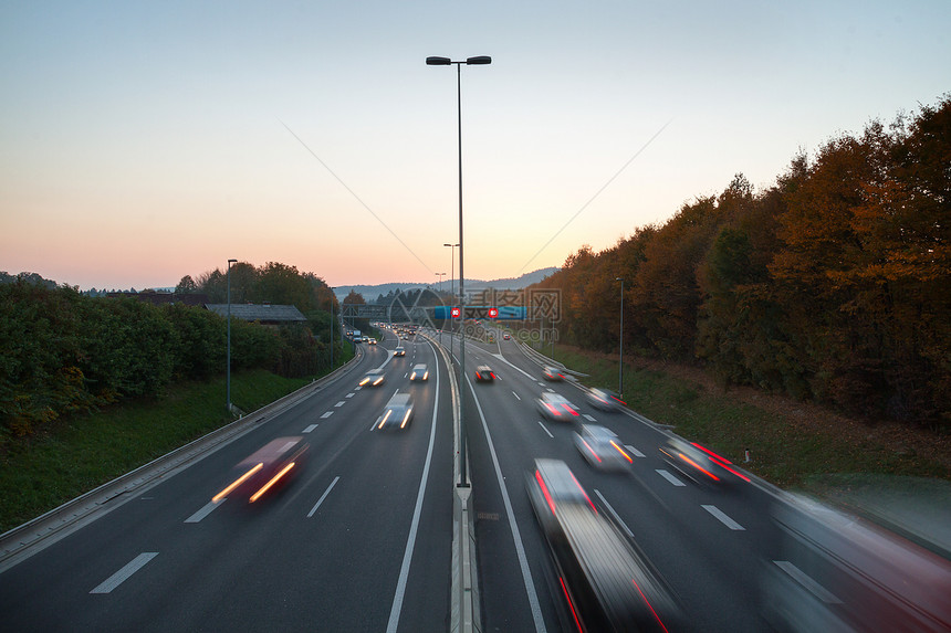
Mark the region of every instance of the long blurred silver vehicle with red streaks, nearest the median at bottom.
POLYGON ((597 511, 564 462, 535 460, 526 477, 532 509, 548 542, 571 613, 581 631, 676 631, 678 601, 636 545, 597 511))

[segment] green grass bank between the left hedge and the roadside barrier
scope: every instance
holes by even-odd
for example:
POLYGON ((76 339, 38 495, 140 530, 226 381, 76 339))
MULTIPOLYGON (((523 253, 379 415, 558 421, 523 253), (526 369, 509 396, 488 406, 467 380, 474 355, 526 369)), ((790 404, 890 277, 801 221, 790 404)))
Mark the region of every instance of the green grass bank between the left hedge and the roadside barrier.
MULTIPOLYGON (((231 401, 251 412, 303 387, 254 370, 231 376, 231 401)), ((224 377, 180 383, 160 400, 74 415, 55 433, 0 457, 0 534, 228 423, 224 377)))

